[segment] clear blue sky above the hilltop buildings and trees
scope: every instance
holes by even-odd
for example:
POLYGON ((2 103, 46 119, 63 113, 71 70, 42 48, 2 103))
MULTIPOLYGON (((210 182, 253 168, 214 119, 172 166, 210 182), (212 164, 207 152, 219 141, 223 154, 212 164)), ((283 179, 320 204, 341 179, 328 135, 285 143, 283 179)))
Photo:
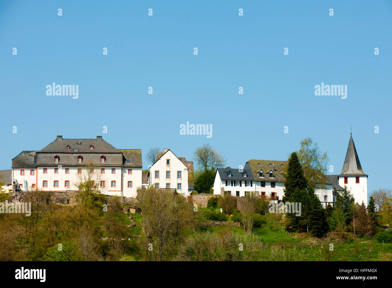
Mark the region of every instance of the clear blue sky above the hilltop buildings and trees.
POLYGON ((390 187, 391 16, 388 0, 1 1, 0 169, 56 135, 142 149, 144 168, 153 146, 191 159, 210 143, 238 167, 311 137, 339 174, 352 124, 368 192, 390 187), (47 96, 52 82, 79 98, 47 96), (347 99, 315 96, 321 82, 347 99), (180 135, 187 121, 212 138, 180 135))

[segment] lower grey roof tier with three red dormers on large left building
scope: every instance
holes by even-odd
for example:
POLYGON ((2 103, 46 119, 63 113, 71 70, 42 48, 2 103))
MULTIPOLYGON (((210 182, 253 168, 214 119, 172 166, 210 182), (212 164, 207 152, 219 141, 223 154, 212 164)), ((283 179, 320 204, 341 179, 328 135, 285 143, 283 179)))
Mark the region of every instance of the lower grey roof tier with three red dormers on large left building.
POLYGON ((122 166, 123 156, 118 153, 40 153, 37 152, 37 166, 83 166, 93 164, 97 166, 122 166), (54 162, 54 156, 60 157, 60 161, 54 162), (82 156, 82 162, 78 162, 78 156, 82 156), (101 156, 105 156, 105 162, 100 162, 101 156))

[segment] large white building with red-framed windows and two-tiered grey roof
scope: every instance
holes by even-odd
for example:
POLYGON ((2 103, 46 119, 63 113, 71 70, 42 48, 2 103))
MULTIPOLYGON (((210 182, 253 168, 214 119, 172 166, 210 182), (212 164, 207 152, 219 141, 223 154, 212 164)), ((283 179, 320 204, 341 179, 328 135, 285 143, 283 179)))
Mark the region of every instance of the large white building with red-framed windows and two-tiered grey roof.
POLYGON ((142 186, 140 149, 116 149, 102 136, 96 139, 63 139, 39 151, 22 151, 12 159, 15 190, 65 192, 78 190, 81 180, 99 183, 103 194, 136 197, 142 186))

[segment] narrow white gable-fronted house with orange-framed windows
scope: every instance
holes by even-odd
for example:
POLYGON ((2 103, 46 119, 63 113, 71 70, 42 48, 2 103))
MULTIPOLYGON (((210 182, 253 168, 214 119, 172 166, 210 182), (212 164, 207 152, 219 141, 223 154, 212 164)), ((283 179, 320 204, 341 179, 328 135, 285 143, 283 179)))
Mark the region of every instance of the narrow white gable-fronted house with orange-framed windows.
POLYGON ((157 154, 156 162, 149 168, 149 185, 154 185, 156 189, 176 189, 178 193, 187 196, 189 170, 193 174, 192 161, 178 158, 165 148, 164 152, 157 154))

